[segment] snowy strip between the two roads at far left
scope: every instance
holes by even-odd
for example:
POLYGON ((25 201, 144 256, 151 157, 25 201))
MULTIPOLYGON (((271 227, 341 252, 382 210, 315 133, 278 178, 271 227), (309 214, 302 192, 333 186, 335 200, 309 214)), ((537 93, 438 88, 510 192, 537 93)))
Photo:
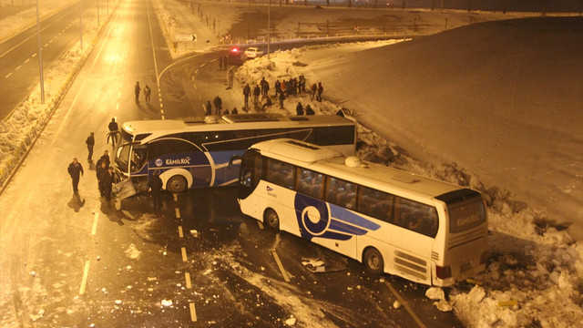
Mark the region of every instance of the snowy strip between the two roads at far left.
MULTIPOLYGON (((55 10, 56 4, 62 5, 58 2, 47 1, 41 12, 50 15, 55 10)), ((118 5, 118 2, 116 4, 112 2, 111 5, 114 7, 118 5)), ((107 19, 101 20, 100 27, 106 25, 113 12, 114 10, 110 11, 107 19)), ((29 10, 14 17, 8 17, 2 21, 1 26, 3 29, 17 26, 22 17, 27 17, 27 15, 29 15, 29 10)), ((4 185, 6 179, 9 178, 40 132, 45 128, 46 122, 58 107, 68 87, 73 83, 77 72, 85 64, 87 56, 91 54, 99 33, 97 17, 92 21, 84 20, 84 26, 86 31, 83 38, 86 42, 83 49, 77 42, 66 51, 66 54, 56 64, 46 68, 43 72, 45 103, 41 104, 40 85, 37 85, 30 96, 19 107, 15 108, 8 118, 0 122, 0 185, 4 185)))

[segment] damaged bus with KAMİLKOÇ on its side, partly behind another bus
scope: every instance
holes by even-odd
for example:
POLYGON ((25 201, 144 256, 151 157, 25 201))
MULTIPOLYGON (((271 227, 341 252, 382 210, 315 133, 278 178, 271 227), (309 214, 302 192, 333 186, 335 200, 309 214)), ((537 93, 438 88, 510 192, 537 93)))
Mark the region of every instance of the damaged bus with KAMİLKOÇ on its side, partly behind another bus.
POLYGON ((154 170, 170 192, 226 186, 239 179, 240 160, 230 162, 231 157, 271 138, 310 141, 349 155, 355 149, 356 127, 336 115, 238 114, 202 121, 130 121, 122 125, 114 168, 119 179, 131 180, 132 194, 148 189, 154 170))

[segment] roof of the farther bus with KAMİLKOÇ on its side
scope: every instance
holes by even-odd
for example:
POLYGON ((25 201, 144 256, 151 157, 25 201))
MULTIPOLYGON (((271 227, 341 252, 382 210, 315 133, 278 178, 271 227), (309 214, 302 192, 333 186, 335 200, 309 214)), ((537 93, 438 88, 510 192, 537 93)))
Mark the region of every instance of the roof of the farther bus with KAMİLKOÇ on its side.
MULTIPOLYGON (((207 117, 214 118, 214 117, 207 117)), ((354 125, 353 121, 338 115, 282 116, 278 114, 235 114, 223 115, 213 123, 209 119, 152 119, 128 121, 122 129, 130 135, 155 134, 152 138, 177 132, 202 132, 234 129, 292 128, 326 125, 354 125)))

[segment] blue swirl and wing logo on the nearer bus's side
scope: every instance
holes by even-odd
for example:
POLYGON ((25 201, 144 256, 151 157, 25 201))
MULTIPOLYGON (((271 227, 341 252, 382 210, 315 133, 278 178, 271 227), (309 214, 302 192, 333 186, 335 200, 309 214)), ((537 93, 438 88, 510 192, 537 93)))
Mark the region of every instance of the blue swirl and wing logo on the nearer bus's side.
POLYGON ((296 193, 294 208, 302 238, 313 237, 348 241, 353 236, 362 236, 376 231, 380 225, 343 207, 328 204, 323 200, 296 193))

